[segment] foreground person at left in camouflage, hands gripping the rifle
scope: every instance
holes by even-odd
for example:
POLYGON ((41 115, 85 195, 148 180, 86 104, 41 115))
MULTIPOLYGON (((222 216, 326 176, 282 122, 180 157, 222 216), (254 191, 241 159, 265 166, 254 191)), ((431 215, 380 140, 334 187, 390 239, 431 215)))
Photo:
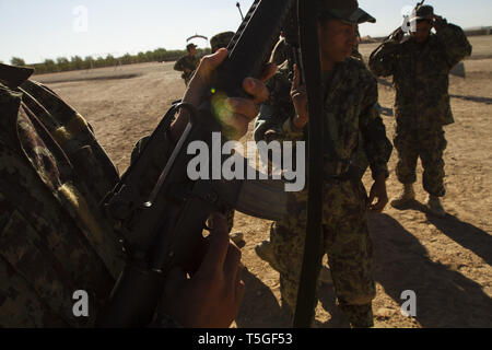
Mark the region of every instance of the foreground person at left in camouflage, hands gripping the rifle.
MULTIPOLYGON (((210 75, 225 57, 208 57, 196 74, 210 75)), ((51 90, 30 81, 32 73, 0 65, 0 327, 90 327, 124 262, 118 234, 99 207, 119 176, 90 125, 51 90), (78 290, 89 294, 86 317, 73 314, 78 290)), ((186 102, 200 103, 202 81, 190 82, 186 102)), ((247 83, 258 101, 268 94, 261 82, 247 83)), ((237 110, 253 112, 233 117, 256 117, 253 101, 235 101, 237 110)), ((173 124, 141 192, 155 184, 186 124, 186 116, 173 124)), ((225 220, 214 223, 201 279, 169 272, 160 311, 171 318, 161 315, 155 325, 226 327, 237 313, 244 294, 241 252, 229 244, 225 220)))

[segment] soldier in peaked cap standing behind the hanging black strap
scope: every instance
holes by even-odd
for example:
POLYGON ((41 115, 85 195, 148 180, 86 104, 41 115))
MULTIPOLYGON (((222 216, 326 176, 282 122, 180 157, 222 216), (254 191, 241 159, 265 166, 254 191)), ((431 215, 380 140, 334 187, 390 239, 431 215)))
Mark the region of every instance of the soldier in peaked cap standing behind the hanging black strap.
MULTIPOLYGON (((385 183, 393 148, 376 108, 376 80, 363 62, 349 56, 356 40, 356 24, 375 20, 359 9, 356 1, 320 0, 318 5, 325 135, 329 136, 324 150, 319 150, 325 154, 325 163, 319 165, 325 171, 320 249, 328 255, 338 304, 351 326, 371 327, 375 287, 366 210, 370 207, 382 211, 387 203, 385 183), (359 173, 351 168, 360 136, 375 179, 370 199, 359 173)), ((297 70, 293 83, 285 74, 270 80, 270 98, 260 109, 256 141, 305 140, 307 97, 298 80, 297 70)), ((296 303, 303 260, 306 203, 306 190, 292 194, 289 217, 274 222, 270 230, 282 300, 291 311, 296 303)))

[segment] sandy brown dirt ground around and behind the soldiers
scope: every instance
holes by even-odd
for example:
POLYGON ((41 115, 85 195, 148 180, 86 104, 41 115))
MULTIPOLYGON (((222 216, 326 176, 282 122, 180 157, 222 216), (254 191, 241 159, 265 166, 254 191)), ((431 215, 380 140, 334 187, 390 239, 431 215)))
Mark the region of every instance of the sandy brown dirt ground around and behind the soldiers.
MULTIPOLYGON (((419 203, 408 210, 388 206, 370 214, 374 241, 373 303, 376 327, 492 327, 492 36, 472 37, 473 56, 466 60, 466 79, 450 78, 456 124, 446 127, 445 152, 448 214, 437 219, 423 208, 422 168, 415 186, 419 203), (401 293, 417 294, 417 316, 400 313, 401 293)), ((375 45, 361 46, 365 57, 375 45)), ((185 85, 173 62, 37 75, 94 127, 119 171, 129 163, 133 144, 150 133, 185 85)), ((393 140, 395 92, 379 84, 379 102, 393 140)), ((246 140, 251 139, 251 133, 246 140)), ((388 195, 400 185, 395 177, 396 152, 389 162, 388 195)), ((371 178, 366 174, 368 187, 371 178)), ((245 235, 246 295, 236 327, 290 327, 280 304, 279 275, 258 258, 255 246, 269 237, 270 222, 236 214, 234 231, 245 235)), ((316 326, 347 327, 336 306, 332 287, 320 290, 316 326)))

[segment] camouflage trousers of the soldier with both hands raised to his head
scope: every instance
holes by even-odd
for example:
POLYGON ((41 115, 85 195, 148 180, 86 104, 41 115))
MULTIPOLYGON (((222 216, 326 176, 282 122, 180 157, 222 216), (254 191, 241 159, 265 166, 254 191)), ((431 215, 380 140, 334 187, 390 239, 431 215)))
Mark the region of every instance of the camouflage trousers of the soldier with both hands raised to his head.
POLYGON ((423 188, 432 196, 443 197, 444 160, 446 139, 442 127, 433 130, 399 130, 394 140, 398 151, 396 175, 401 184, 413 184, 417 180, 415 167, 420 156, 423 167, 423 188))

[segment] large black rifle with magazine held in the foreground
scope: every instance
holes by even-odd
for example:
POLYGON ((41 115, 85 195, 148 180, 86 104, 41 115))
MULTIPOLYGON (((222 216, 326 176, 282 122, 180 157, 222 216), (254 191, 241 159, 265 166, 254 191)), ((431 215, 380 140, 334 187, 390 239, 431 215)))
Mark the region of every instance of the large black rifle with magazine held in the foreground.
MULTIPOLYGON (((243 80, 259 75, 282 22, 295 2, 256 0, 253 3, 227 47, 229 58, 218 69, 211 91, 227 96, 244 95, 241 88, 243 80)), ((173 106, 140 156, 107 196, 105 208, 121 228, 128 260, 108 305, 98 316, 98 326, 148 325, 161 300, 166 273, 176 266, 187 271, 192 269, 190 262, 203 244, 202 230, 212 212, 237 209, 269 220, 283 217, 285 192, 280 180, 189 179, 187 166, 191 155, 187 154, 188 144, 199 140, 206 142, 209 150, 214 150, 218 145, 213 144, 212 132, 221 130, 210 100, 198 110, 188 104, 173 106), (172 117, 180 108, 188 110, 190 122, 167 164, 163 164, 151 195, 142 199, 140 182, 155 154, 162 151, 162 138, 169 129, 172 117)), ((212 158, 209 154, 209 159, 212 158)), ((214 171, 211 170, 212 173, 214 171)), ((260 178, 258 174, 256 178, 260 178)))

